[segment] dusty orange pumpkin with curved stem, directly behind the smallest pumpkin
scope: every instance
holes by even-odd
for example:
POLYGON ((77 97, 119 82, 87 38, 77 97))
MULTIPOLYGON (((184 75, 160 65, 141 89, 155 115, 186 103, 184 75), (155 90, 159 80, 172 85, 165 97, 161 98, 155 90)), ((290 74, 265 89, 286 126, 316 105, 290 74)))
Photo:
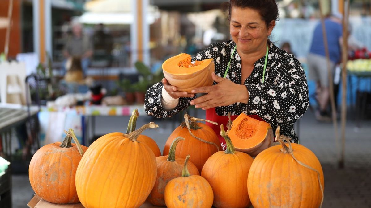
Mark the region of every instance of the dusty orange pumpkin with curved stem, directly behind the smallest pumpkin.
MULTIPOLYGON (((156 206, 165 206, 165 187, 166 184, 173 178, 181 177, 183 170, 184 158, 175 158, 175 148, 179 141, 184 140, 182 137, 178 137, 171 144, 169 155, 160 156, 156 158, 157 161, 157 178, 155 185, 148 196, 148 201, 156 206)), ((192 163, 188 162, 188 171, 190 175, 200 175, 197 167, 192 163)))

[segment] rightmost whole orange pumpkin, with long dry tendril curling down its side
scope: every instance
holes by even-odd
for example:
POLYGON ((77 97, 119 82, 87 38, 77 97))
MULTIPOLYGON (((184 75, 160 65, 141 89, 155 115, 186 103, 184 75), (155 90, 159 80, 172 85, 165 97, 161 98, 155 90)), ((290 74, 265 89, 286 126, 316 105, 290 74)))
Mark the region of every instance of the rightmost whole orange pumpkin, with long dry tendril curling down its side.
POLYGON ((317 157, 303 145, 283 142, 279 127, 276 137, 281 145, 260 152, 250 167, 247 189, 253 206, 320 207, 324 175, 317 157))

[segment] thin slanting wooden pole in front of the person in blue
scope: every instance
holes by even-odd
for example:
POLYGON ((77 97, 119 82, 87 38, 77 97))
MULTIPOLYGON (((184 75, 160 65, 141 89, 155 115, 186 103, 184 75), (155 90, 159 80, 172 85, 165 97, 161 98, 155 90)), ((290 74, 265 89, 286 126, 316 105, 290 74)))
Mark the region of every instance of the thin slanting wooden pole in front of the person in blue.
MULTIPOLYGON (((325 26, 325 18, 324 14, 322 13, 322 1, 319 1, 319 11, 321 13, 321 24, 322 24, 322 34, 324 38, 324 46, 325 46, 325 54, 326 54, 326 62, 327 62, 327 71, 328 71, 328 80, 329 80, 329 91, 330 91, 330 101, 331 101, 331 110, 332 110, 332 123, 334 124, 335 129, 335 140, 336 140, 336 150, 339 150, 339 135, 338 135, 338 121, 336 120, 336 106, 335 106, 335 95, 334 95, 334 81, 332 78, 332 71, 330 66, 330 55, 328 50, 328 41, 327 41, 327 34, 326 34, 326 26, 325 26)), ((339 158, 339 151, 338 158, 339 158)))

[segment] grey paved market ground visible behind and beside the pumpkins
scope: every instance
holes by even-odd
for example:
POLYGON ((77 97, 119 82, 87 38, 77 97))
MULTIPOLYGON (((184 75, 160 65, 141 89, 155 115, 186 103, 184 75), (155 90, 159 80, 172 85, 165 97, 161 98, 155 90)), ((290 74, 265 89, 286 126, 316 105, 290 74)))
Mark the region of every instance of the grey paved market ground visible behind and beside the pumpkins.
MULTIPOLYGON (((203 117, 198 111, 198 116, 203 117)), ((128 118, 101 117, 96 120, 96 133, 126 130, 128 118), (99 128, 98 128, 99 127, 99 128)), ((140 118, 138 125, 148 123, 149 118, 140 118)), ((176 120, 155 120, 160 126, 144 134, 156 140, 160 149, 170 135, 176 120)), ((345 168, 337 168, 337 151, 334 128, 331 123, 317 122, 311 111, 300 120, 299 137, 301 144, 311 149, 321 161, 325 175, 324 208, 370 208, 371 207, 371 121, 364 121, 361 128, 356 128, 349 119, 346 131, 345 168)), ((339 131, 340 132, 340 131, 339 131)), ((339 134, 340 135, 340 134, 339 134)), ((13 176, 13 208, 27 207, 33 192, 28 175, 13 176)))

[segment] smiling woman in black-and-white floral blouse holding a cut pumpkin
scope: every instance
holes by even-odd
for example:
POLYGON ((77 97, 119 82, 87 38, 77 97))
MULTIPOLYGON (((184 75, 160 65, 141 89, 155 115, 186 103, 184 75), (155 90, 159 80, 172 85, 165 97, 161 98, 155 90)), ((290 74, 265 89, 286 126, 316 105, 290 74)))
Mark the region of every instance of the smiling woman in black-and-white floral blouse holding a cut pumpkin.
MULTIPOLYGON (((195 105, 206 110, 207 120, 225 124, 228 112, 234 118, 245 113, 270 123, 273 132, 280 125, 281 134, 298 143, 293 123, 308 108, 308 84, 299 61, 268 40, 278 18, 275 0, 230 0, 232 40, 212 44, 192 59, 214 58, 213 85, 188 94, 164 78, 147 91, 147 114, 165 118, 195 105), (197 93, 207 94, 196 98, 197 93)), ((210 126, 219 135, 220 128, 210 126)))

